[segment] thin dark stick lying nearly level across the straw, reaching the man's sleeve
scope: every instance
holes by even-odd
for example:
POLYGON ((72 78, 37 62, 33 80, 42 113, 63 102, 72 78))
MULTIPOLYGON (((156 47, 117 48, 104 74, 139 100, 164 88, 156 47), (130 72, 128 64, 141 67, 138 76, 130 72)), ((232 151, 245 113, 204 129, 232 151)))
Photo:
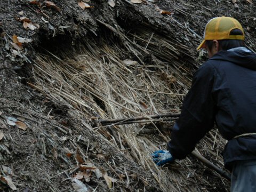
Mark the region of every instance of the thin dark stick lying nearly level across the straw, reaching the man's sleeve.
POLYGON ((156 115, 149 115, 149 116, 138 116, 138 117, 131 117, 131 118, 120 118, 120 119, 98 119, 95 123, 101 123, 104 124, 112 124, 112 123, 121 123, 121 122, 132 122, 132 121, 139 121, 144 119, 155 119, 155 118, 165 118, 165 117, 179 117, 180 114, 173 114, 173 113, 167 113, 167 114, 156 114, 156 115))

